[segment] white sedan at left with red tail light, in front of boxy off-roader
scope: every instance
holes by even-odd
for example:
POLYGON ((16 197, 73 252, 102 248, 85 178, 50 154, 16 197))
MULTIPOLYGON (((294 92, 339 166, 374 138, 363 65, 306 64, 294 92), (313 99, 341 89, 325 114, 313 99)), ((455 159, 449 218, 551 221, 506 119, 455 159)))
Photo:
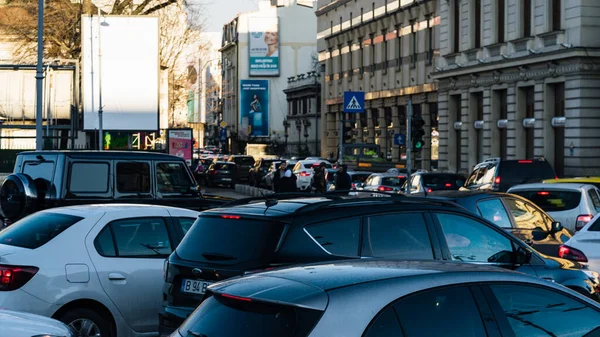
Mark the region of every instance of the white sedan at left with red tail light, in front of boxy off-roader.
POLYGON ((23 218, 0 232, 0 308, 55 318, 77 336, 155 336, 165 259, 198 214, 111 204, 23 218))

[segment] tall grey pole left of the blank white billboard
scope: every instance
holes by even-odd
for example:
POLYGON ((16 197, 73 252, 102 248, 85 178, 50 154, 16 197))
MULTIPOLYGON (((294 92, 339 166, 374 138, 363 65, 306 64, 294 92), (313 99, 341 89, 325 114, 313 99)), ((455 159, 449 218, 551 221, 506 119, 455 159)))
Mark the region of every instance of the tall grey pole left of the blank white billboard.
POLYGON ((35 149, 41 151, 44 149, 43 138, 43 90, 44 90, 44 0, 38 0, 38 63, 35 72, 35 149))

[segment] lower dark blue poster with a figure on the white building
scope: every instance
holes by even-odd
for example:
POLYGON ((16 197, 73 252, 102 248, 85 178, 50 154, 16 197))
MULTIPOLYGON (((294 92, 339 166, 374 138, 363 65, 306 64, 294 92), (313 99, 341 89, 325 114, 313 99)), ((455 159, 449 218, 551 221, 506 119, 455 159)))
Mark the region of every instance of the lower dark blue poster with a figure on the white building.
POLYGON ((269 81, 240 81, 240 136, 269 136, 269 81))

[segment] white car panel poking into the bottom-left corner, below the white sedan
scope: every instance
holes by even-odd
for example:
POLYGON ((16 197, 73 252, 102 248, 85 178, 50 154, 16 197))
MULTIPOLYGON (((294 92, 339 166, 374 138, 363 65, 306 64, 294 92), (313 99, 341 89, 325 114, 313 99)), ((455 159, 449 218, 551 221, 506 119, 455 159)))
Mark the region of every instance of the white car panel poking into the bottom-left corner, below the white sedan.
POLYGON ((71 330, 63 323, 39 315, 0 309, 0 336, 50 335, 72 337, 71 330))

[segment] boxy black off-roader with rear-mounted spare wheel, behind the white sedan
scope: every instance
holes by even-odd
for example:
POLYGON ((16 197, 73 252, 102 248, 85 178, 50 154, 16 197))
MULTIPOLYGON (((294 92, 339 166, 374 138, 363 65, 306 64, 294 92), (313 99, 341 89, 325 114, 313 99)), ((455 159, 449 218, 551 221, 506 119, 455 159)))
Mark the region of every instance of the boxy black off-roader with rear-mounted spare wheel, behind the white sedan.
POLYGON ((199 211, 224 204, 202 196, 185 160, 152 152, 21 152, 0 187, 8 223, 45 208, 110 202, 199 211))

